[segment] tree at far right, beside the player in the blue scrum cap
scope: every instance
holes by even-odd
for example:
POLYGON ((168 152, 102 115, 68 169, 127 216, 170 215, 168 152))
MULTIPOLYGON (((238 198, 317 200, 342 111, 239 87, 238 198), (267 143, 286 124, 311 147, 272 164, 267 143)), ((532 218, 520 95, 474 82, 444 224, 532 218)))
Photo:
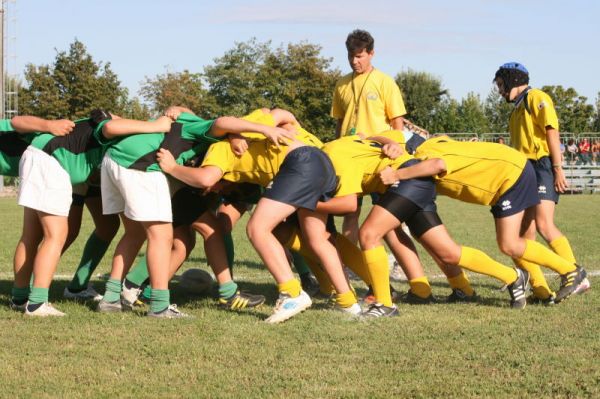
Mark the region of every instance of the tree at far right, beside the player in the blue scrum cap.
POLYGON ((587 97, 580 96, 572 87, 544 86, 542 90, 554 101, 561 131, 580 133, 591 129, 594 106, 587 104, 587 97))

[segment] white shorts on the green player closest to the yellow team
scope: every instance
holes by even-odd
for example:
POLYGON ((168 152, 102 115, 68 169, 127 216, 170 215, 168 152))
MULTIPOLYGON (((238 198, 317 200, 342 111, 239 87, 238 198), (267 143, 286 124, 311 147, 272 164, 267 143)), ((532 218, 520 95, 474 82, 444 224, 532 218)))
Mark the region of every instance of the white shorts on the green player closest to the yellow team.
POLYGON ((100 181, 105 215, 123 212, 138 222, 172 222, 169 182, 162 172, 127 169, 105 155, 100 181))

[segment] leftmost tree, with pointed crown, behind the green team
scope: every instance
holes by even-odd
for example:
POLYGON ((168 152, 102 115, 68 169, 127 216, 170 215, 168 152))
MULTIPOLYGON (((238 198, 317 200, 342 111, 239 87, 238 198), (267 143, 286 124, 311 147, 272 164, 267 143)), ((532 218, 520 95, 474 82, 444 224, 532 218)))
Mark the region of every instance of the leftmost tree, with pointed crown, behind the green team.
POLYGON ((25 81, 19 97, 22 114, 78 119, 94 108, 119 114, 127 105, 127 89, 121 87, 110 63, 96 63, 78 40, 69 52, 58 52, 53 65, 28 64, 25 81))

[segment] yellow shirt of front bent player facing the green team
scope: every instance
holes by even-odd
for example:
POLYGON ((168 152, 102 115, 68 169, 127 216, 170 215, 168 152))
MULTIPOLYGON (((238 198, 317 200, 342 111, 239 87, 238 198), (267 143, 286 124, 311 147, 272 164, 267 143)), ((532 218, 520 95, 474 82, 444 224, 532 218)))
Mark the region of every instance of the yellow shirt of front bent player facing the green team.
MULTIPOLYGON (((273 126, 273 117, 257 110, 243 119, 255 123, 273 126)), ((315 136, 296 126, 299 133, 296 139, 306 145, 320 148, 323 143, 315 136)), ((262 135, 242 133, 248 140, 248 150, 242 156, 236 156, 228 141, 211 145, 201 166, 216 166, 223 172, 223 179, 235 183, 254 183, 267 187, 273 180, 288 153, 288 147, 277 148, 262 135)))

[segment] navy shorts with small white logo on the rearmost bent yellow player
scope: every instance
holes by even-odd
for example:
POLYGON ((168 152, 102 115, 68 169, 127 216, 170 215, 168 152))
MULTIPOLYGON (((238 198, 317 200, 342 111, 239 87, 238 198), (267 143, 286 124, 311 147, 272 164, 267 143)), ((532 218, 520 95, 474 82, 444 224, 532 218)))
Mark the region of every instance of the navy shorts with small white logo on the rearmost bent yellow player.
MULTIPOLYGON (((554 183, 552 184, 554 185, 554 183)), ((540 197, 537 193, 535 171, 531 163, 527 162, 517 182, 498 198, 498 201, 492 205, 490 212, 492 212, 495 219, 500 219, 512 216, 539 203, 540 197)))

